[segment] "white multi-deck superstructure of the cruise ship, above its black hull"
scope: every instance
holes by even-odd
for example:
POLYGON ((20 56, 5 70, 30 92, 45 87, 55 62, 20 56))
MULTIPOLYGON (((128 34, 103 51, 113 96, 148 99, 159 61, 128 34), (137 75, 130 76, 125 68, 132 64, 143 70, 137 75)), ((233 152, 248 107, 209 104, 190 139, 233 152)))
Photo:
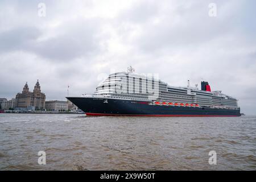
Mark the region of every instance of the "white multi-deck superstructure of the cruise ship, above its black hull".
POLYGON ((109 75, 97 86, 93 96, 239 108, 236 98, 222 94, 221 91, 199 90, 197 85, 191 87, 189 81, 187 87, 170 86, 159 80, 157 75, 137 74, 131 67, 127 69, 127 72, 109 75))

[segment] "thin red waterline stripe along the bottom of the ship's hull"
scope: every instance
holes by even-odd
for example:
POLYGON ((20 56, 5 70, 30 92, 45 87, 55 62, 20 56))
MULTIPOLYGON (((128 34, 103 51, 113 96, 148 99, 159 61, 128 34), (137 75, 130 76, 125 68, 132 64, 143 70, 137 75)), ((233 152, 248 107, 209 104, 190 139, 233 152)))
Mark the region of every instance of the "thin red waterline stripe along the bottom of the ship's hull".
POLYGON ((239 117, 240 115, 177 115, 177 114, 164 114, 164 115, 153 115, 153 114, 105 114, 105 113, 85 113, 86 115, 94 116, 115 116, 115 115, 125 115, 125 116, 152 116, 152 117, 239 117))

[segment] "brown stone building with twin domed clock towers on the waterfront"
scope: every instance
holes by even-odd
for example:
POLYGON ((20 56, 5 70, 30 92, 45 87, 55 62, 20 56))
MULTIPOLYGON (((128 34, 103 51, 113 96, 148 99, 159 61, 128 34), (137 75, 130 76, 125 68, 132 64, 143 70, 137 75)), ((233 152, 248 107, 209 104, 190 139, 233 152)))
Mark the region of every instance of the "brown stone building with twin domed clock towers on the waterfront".
POLYGON ((32 106, 35 109, 43 110, 45 105, 46 94, 41 92, 39 81, 36 82, 33 92, 29 91, 26 82, 22 93, 16 94, 16 107, 28 108, 32 106))

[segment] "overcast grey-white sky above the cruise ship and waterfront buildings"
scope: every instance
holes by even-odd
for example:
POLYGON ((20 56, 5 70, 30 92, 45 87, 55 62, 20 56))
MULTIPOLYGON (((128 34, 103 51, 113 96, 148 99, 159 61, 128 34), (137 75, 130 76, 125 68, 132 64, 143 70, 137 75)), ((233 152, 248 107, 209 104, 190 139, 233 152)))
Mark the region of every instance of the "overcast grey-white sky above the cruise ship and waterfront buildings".
POLYGON ((39 79, 47 100, 93 93, 110 72, 208 81, 256 114, 256 2, 0 1, 0 97, 39 79), (42 6, 46 5, 46 16, 42 6), (212 16, 217 7, 216 16, 212 16), (39 6, 39 7, 38 7, 39 6))

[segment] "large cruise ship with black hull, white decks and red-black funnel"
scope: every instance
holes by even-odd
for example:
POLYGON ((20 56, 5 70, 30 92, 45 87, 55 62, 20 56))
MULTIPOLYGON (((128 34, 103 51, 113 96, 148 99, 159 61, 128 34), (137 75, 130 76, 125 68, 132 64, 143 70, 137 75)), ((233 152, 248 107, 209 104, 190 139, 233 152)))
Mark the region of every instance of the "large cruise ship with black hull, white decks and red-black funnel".
POLYGON ((241 116, 237 99, 212 91, 201 81, 184 87, 170 86, 155 74, 138 74, 132 67, 110 74, 91 95, 68 96, 86 115, 127 116, 241 116))

